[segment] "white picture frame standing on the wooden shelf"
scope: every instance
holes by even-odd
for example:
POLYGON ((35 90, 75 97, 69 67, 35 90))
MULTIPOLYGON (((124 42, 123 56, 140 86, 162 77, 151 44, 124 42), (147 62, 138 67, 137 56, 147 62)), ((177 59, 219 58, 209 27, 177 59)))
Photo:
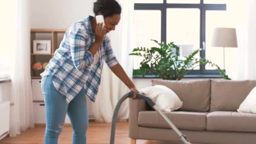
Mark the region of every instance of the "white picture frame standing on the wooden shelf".
POLYGON ((33 40, 34 54, 51 54, 51 40, 33 40))

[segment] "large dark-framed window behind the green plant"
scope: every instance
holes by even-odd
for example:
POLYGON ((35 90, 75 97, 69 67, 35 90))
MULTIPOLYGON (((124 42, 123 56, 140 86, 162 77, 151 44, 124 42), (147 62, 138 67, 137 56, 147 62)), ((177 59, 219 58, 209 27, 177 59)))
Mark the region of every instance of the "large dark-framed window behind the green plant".
MULTIPOLYGON (((208 45, 211 39, 213 27, 218 26, 212 21, 223 18, 221 15, 226 10, 225 0, 135 0, 133 48, 155 46, 152 45, 151 39, 164 43, 173 41, 180 46, 182 56, 202 48, 200 56, 213 59, 216 55, 211 53, 219 52, 212 52, 211 48, 208 50, 205 45, 208 45)), ((133 69, 139 69, 141 60, 142 58, 133 57, 133 69)), ((219 61, 221 59, 218 59, 216 64, 222 66, 219 61)), ((204 65, 188 73, 188 75, 218 74, 219 72, 204 65)))

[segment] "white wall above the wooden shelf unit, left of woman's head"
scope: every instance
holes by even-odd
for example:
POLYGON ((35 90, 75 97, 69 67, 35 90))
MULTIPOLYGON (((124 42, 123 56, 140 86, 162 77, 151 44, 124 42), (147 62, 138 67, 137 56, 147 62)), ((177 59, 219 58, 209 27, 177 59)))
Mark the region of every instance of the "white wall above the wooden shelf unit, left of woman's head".
POLYGON ((96 0, 31 0, 31 28, 67 29, 93 15, 96 0))

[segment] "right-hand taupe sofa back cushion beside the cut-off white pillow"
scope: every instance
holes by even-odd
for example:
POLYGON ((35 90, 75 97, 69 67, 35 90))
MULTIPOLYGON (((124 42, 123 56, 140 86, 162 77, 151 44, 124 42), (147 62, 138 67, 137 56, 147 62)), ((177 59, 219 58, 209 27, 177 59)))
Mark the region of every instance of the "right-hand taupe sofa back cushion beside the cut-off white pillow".
POLYGON ((212 80, 210 111, 237 111, 255 86, 256 80, 212 80))

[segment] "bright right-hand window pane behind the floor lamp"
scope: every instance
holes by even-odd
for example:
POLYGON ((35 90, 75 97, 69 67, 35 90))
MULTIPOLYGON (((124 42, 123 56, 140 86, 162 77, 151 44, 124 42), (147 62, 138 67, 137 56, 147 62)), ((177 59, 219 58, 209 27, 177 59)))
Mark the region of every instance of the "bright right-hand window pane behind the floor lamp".
MULTIPOLYGON (((233 27, 234 23, 231 19, 227 19, 227 11, 206 11, 206 48, 205 58, 217 64, 221 69, 224 68, 224 51, 223 48, 211 47, 211 39, 213 29, 216 27, 233 27)), ((236 60, 236 48, 225 48, 225 69, 232 69, 236 60)), ((205 69, 213 69, 206 66, 205 69)))

